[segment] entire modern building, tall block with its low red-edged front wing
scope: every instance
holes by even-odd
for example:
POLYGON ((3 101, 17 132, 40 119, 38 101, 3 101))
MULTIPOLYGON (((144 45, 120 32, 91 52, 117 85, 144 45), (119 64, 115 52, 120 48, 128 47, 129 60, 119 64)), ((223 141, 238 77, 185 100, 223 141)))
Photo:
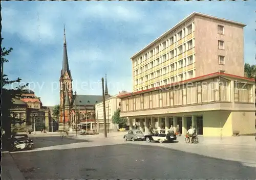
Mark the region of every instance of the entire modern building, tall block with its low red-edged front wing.
POLYGON ((130 128, 189 126, 203 136, 255 133, 254 80, 244 78, 244 24, 192 13, 132 57, 130 128))

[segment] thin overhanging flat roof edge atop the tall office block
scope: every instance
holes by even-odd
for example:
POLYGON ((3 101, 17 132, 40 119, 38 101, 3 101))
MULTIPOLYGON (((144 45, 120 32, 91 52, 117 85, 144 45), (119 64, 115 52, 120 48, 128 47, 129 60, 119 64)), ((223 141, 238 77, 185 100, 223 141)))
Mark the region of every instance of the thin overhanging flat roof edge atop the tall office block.
POLYGON ((207 17, 207 18, 211 18, 211 19, 216 19, 216 20, 220 20, 220 21, 225 21, 225 22, 229 22, 229 23, 233 23, 233 24, 237 24, 240 25, 241 27, 245 27, 246 24, 243 24, 241 22, 236 22, 236 21, 232 21, 232 20, 228 20, 228 19, 223 19, 223 18, 219 18, 219 17, 215 17, 215 16, 210 16, 208 14, 203 14, 203 13, 198 13, 198 12, 193 12, 190 15, 188 15, 187 17, 185 17, 183 20, 181 20, 179 23, 177 23, 173 28, 169 29, 168 31, 166 31, 165 33, 163 33, 161 36, 159 36, 157 39, 155 39, 154 41, 152 41, 150 44, 146 45, 143 49, 141 49, 139 52, 135 53, 131 59, 135 58, 136 56, 138 56, 140 53, 142 53, 145 49, 151 47, 152 45, 154 45, 158 40, 160 40, 161 38, 163 38, 164 36, 166 36, 167 34, 169 34, 170 32, 174 31, 176 28, 178 28, 180 25, 182 25, 184 22, 186 22, 187 20, 189 20, 192 17, 195 17, 196 15, 198 16, 202 16, 202 17, 207 17))

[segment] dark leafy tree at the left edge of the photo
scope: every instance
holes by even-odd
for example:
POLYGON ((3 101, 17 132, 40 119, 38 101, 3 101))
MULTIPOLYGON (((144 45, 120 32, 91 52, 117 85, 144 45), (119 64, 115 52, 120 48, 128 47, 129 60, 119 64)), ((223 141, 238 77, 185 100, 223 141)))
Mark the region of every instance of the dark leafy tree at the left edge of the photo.
MULTIPOLYGON (((1 42, 3 41, 4 38, 1 39, 1 42)), ((24 121, 21 119, 16 119, 14 117, 11 117, 11 109, 15 108, 16 105, 14 104, 15 98, 20 98, 22 89, 25 88, 28 84, 25 86, 18 86, 14 89, 7 89, 4 88, 6 85, 11 85, 13 83, 19 83, 22 79, 17 78, 16 80, 9 80, 8 76, 6 74, 3 74, 3 65, 4 63, 9 62, 6 57, 12 52, 13 48, 10 47, 9 49, 6 49, 5 47, 2 49, 1 52, 1 62, 2 62, 2 106, 1 106, 1 113, 2 113, 2 118, 1 118, 1 123, 2 123, 2 128, 5 131, 6 138, 9 138, 11 136, 11 124, 15 123, 23 123, 24 121)))

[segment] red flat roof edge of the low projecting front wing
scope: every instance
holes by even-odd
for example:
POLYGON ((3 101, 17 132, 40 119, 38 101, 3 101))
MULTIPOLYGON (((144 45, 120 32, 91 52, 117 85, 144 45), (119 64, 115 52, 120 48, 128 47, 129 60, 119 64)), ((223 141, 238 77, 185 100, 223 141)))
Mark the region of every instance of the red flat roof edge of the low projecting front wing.
POLYGON ((254 82, 255 81, 254 79, 245 78, 245 77, 238 76, 238 75, 227 74, 227 73, 223 73, 223 72, 214 72, 214 73, 198 76, 196 78, 191 78, 191 79, 188 79, 188 80, 171 83, 171 84, 168 84, 168 85, 163 85, 163 86, 159 86, 159 87, 155 87, 155 88, 151 88, 151 89, 145 89, 145 90, 142 90, 142 91, 123 94, 123 95, 120 95, 120 96, 117 96, 117 97, 118 98, 130 97, 130 96, 139 95, 139 94, 143 94, 143 93, 147 93, 147 92, 153 92, 153 91, 161 90, 161 89, 167 88, 167 87, 174 87, 174 86, 177 86, 177 85, 183 85, 183 84, 186 84, 186 83, 189 83, 189 82, 196 82, 196 81, 201 81, 201 80, 207 80, 207 79, 210 79, 210 78, 216 78, 218 76, 224 76, 224 77, 227 77, 227 78, 234 78, 234 79, 238 79, 238 80, 246 80, 246 81, 249 81, 249 82, 254 82))

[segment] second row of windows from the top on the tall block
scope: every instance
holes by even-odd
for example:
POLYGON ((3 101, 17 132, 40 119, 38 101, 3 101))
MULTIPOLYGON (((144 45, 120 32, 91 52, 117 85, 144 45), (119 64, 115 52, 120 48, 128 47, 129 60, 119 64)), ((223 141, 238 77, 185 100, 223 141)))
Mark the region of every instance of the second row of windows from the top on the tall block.
MULTIPOLYGON (((193 39, 194 40, 194 39, 193 39)), ((182 53, 185 53, 186 52, 186 47, 187 47, 187 50, 190 50, 193 48, 193 40, 189 40, 187 42, 185 42, 184 44, 181 44, 178 48, 174 48, 173 50, 170 50, 168 53, 162 55, 161 57, 155 59, 155 60, 152 60, 151 62, 148 62, 146 63, 144 66, 140 67, 140 68, 135 68, 136 70, 134 71, 135 72, 135 75, 137 75, 138 73, 142 73, 150 68, 153 68, 169 59, 172 59, 182 53)))

